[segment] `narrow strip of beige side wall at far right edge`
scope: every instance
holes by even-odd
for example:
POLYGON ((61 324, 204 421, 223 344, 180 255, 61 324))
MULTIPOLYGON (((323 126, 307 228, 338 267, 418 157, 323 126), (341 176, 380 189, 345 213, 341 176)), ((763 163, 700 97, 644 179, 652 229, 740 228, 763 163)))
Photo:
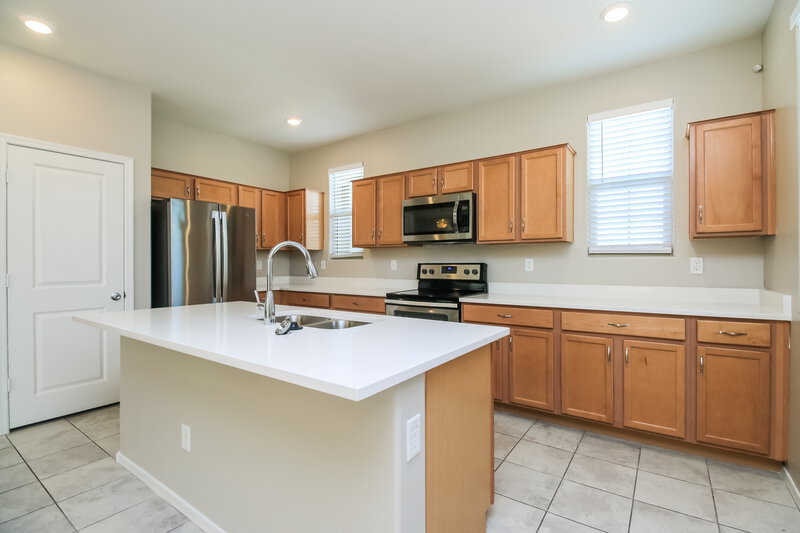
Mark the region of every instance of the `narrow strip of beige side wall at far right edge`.
MULTIPOLYGON (((764 107, 775 108, 775 175, 778 186, 778 234, 765 254, 765 285, 792 295, 792 336, 800 338, 800 291, 798 279, 798 184, 797 184, 797 57, 795 35, 789 16, 797 0, 777 0, 763 34, 764 107)), ((800 39, 800 36, 798 36, 800 39)), ((800 405, 800 364, 791 365, 791 404, 800 405)), ((789 464, 800 480, 800 409, 791 410, 789 464)))

